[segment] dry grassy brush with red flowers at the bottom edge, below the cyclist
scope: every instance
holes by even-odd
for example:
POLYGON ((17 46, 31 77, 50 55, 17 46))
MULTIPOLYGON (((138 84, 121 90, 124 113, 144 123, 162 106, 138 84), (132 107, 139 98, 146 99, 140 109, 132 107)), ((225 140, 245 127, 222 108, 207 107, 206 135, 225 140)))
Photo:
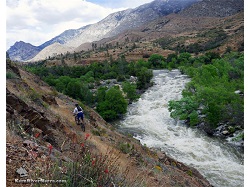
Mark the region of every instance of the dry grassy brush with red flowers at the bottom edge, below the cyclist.
POLYGON ((79 154, 82 157, 74 162, 54 163, 50 168, 50 175, 54 179, 65 180, 67 187, 131 186, 126 180, 127 168, 123 173, 119 171, 119 156, 116 156, 113 150, 98 155, 84 147, 79 150, 79 154))

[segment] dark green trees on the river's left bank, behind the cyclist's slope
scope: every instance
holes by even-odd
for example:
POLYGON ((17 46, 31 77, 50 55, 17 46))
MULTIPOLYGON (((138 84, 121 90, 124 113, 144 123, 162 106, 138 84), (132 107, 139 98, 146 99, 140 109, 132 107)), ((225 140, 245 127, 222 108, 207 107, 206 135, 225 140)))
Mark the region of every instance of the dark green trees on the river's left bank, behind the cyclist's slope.
POLYGON ((128 103, 120 90, 117 90, 119 91, 118 94, 113 89, 108 90, 100 87, 101 80, 117 79, 126 82, 130 76, 138 76, 136 85, 123 84, 124 95, 131 102, 138 98, 137 89, 148 88, 153 77, 152 70, 149 70, 151 68, 150 62, 139 60, 138 62, 128 63, 125 56, 121 56, 116 61, 95 62, 88 66, 45 67, 44 63, 37 63, 28 64, 25 68, 40 76, 50 86, 55 87, 57 91, 91 107, 96 106, 100 114, 107 120, 115 120, 124 114, 128 103), (110 95, 113 95, 114 98, 110 95))

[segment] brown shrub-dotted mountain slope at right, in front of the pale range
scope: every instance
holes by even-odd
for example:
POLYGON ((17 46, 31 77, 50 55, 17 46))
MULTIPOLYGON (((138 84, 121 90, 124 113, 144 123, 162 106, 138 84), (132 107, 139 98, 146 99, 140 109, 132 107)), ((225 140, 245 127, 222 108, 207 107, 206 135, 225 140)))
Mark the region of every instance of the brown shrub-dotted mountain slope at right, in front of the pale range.
MULTIPOLYGON (((121 55, 125 55, 130 61, 154 53, 167 56, 185 51, 194 55, 197 52, 209 51, 220 54, 227 50, 243 51, 243 1, 204 0, 178 13, 162 16, 138 28, 94 43, 103 49, 98 48, 92 53, 84 53, 82 51, 91 49, 91 45, 87 43, 75 49, 80 53, 79 56, 82 56, 79 64, 109 60, 110 56, 117 59, 121 55), (204 9, 201 5, 204 5, 202 6, 204 9), (213 8, 215 5, 220 6, 220 9, 213 8), (199 16, 202 13, 203 16, 199 16)), ((66 63, 74 62, 68 60, 66 63)))

